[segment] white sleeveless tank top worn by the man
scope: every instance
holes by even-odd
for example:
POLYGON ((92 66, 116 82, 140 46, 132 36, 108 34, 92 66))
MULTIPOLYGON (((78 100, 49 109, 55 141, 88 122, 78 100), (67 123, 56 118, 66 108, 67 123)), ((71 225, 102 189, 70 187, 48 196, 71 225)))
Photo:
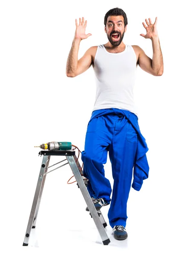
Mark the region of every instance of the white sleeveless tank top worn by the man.
POLYGON ((108 52, 103 44, 98 45, 94 59, 96 98, 92 111, 119 108, 138 116, 133 95, 136 62, 131 45, 126 44, 125 50, 119 53, 108 52))

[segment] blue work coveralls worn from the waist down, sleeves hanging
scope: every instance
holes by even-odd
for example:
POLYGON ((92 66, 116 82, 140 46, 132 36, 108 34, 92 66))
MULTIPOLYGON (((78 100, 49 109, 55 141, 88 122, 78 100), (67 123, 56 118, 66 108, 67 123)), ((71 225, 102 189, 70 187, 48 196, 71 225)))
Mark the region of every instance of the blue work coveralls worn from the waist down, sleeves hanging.
POLYGON ((89 120, 84 151, 83 176, 88 179, 87 189, 93 198, 104 198, 109 204, 109 224, 126 227, 126 205, 132 187, 140 190, 148 177, 146 159, 148 147, 141 134, 138 117, 118 108, 100 109, 92 112, 89 120), (113 189, 105 177, 103 164, 109 159, 112 165, 113 189), (112 192, 112 200, 110 198, 112 192))

